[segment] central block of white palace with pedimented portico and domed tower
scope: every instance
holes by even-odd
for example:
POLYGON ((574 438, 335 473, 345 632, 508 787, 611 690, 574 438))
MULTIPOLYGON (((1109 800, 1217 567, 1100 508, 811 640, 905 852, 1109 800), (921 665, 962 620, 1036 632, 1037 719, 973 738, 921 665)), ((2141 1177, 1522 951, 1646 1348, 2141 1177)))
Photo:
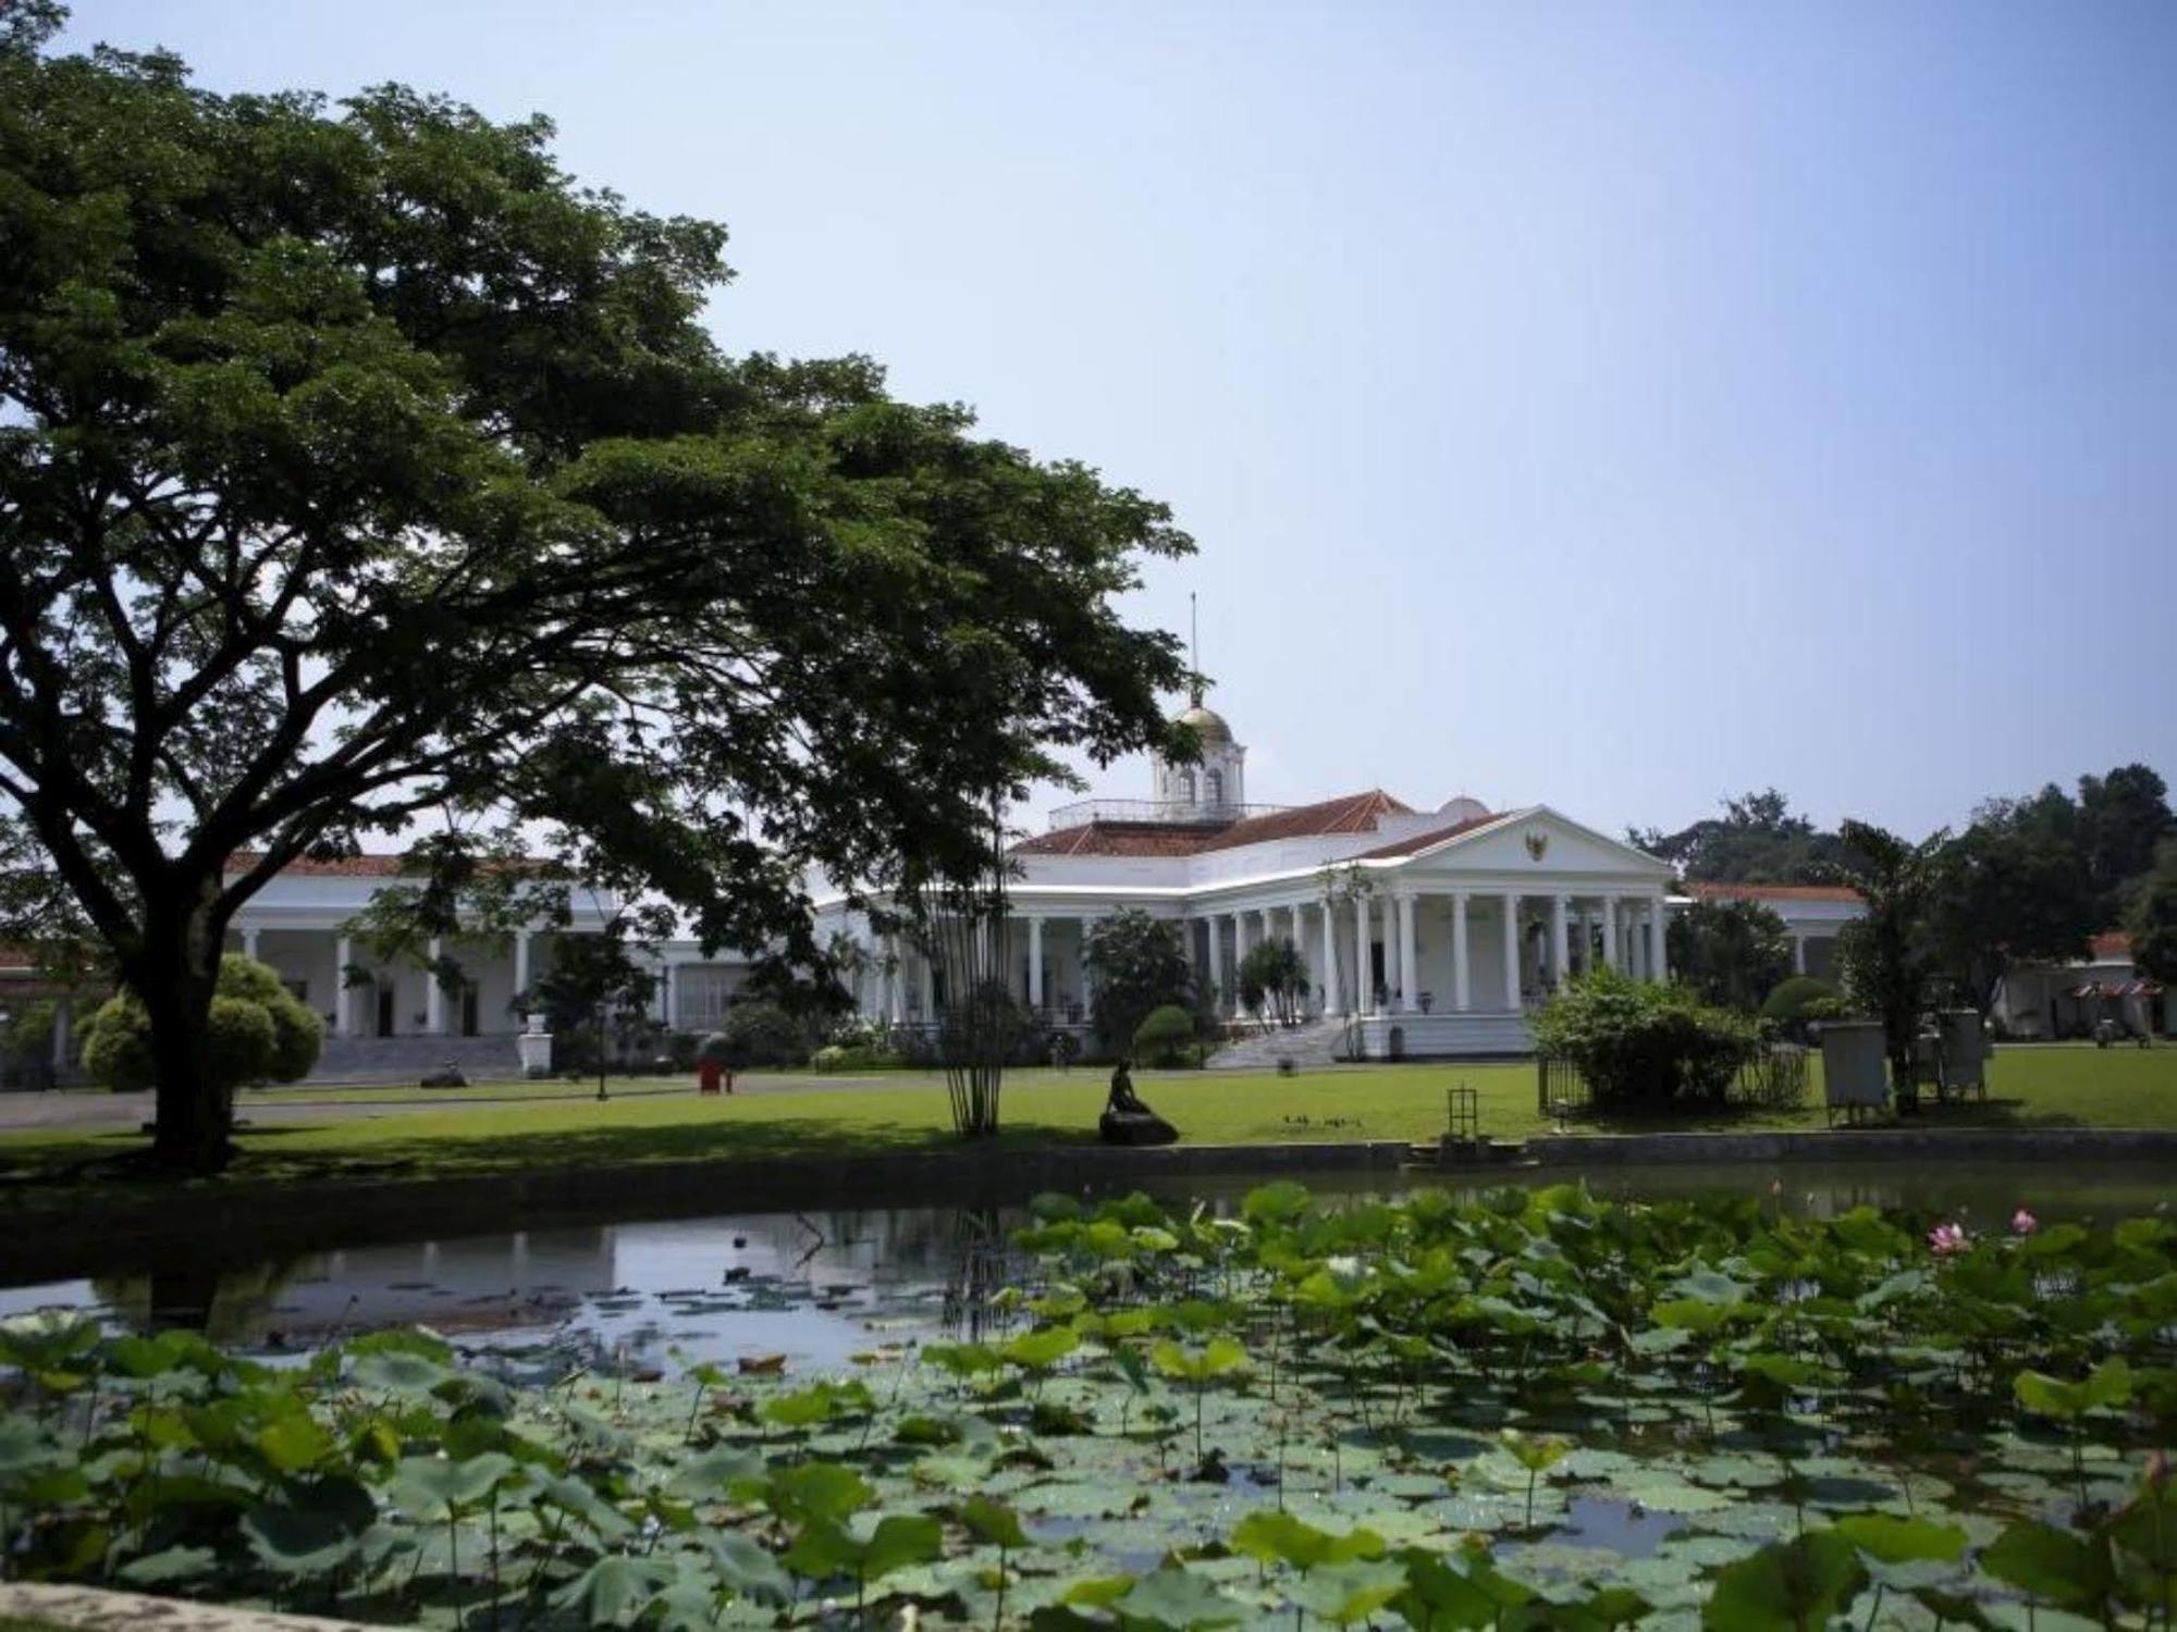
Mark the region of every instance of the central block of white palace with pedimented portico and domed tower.
MULTIPOLYGON (((1567 973, 1668 973, 1670 866, 1548 805, 1489 809, 1459 796, 1413 809, 1382 790, 1313 805, 1247 803, 1247 749, 1195 696, 1180 716, 1193 766, 1152 762, 1149 801, 1088 801, 1012 849, 1012 990, 1054 1025, 1082 1025, 1097 918, 1139 907, 1182 925, 1189 957, 1237 1018, 1232 970, 1265 938, 1291 940, 1311 1014, 1369 1058, 1489 1055, 1533 1047, 1526 1012, 1567 973)), ((1787 892, 1789 894, 1789 892, 1787 892)), ((1833 892, 1805 892, 1833 894, 1833 892)), ((1774 901, 1807 966, 1835 936, 1835 901, 1774 901)), ((1857 905, 1857 903, 1855 903, 1857 905)), ((943 973, 886 942, 834 894, 819 925, 864 944, 858 999, 914 1025, 945 1003, 943 973)))

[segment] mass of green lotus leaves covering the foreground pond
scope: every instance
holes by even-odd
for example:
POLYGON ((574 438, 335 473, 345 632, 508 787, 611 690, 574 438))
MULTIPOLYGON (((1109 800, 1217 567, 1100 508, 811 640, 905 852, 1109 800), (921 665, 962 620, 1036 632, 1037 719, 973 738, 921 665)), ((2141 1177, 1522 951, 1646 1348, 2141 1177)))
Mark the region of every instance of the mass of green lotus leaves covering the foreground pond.
POLYGON ((2177 1227, 1805 1201, 775 1221, 581 1319, 270 1345, 344 1282, 268 1284, 253 1351, 100 1284, 0 1325, 0 1558, 466 1628, 2170 1625, 2177 1227))

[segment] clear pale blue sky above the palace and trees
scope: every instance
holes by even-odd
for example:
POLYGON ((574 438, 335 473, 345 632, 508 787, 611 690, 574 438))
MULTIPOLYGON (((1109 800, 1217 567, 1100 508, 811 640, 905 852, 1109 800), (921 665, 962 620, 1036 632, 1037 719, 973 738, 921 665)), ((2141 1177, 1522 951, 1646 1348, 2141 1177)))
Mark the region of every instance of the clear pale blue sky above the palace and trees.
MULTIPOLYGON (((81 0, 725 220, 734 350, 1169 500, 1250 794, 2177 779, 2177 4, 81 0)), ((1115 796, 1147 772, 1097 777, 1115 796)))

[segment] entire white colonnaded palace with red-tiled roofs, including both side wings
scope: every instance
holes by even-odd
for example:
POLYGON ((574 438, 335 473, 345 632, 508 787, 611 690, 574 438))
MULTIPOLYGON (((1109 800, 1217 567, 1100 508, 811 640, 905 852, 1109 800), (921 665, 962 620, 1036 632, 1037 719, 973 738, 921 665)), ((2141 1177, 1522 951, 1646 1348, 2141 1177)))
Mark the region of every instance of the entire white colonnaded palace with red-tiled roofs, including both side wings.
MULTIPOLYGON (((1548 805, 1487 809, 1461 796, 1411 809, 1380 790, 1254 805, 1232 727, 1200 696, 1182 718, 1202 740, 1200 764, 1152 762, 1154 799, 1060 809, 1049 831, 1012 849, 1010 984, 1047 1025, 1086 1027, 1082 938, 1123 907, 1182 925, 1195 970, 1232 1018, 1239 960, 1265 938, 1289 938, 1308 968, 1311 1014, 1337 1021, 1348 1047, 1358 1040, 1369 1058, 1520 1053, 1530 1047, 1526 1012, 1565 973, 1604 962, 1665 973, 1665 914, 1683 899, 1668 899, 1670 868, 1652 855, 1548 805)), ((553 938, 433 947, 462 966, 448 990, 416 964, 374 960, 348 929, 401 877, 392 855, 298 862, 239 912, 229 944, 272 964, 324 1016, 320 1077, 409 1075, 442 1060, 509 1068, 518 994, 549 968, 553 938)), ((1816 975, 1831 973, 1833 938, 1859 916, 1848 890, 1694 890, 1772 907, 1798 966, 1816 975)), ((577 892, 575 931, 594 931, 610 910, 577 892)), ((912 944, 875 931, 836 890, 816 897, 816 929, 821 942, 847 936, 869 953, 862 1014, 938 1018, 943 973, 912 944)), ((749 975, 747 960, 705 955, 692 940, 655 955, 655 1018, 673 1029, 716 1027, 749 975)), ((0 955, 0 999, 30 994, 28 977, 0 955)))

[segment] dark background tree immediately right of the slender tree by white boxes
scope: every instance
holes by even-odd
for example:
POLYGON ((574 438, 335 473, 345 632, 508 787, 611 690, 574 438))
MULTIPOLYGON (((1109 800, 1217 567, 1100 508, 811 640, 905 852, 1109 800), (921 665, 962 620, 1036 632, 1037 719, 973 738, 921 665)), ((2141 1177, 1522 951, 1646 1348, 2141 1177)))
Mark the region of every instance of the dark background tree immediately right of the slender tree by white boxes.
POLYGON ((1992 799, 1935 855, 1929 944, 1981 1014, 2020 962, 2083 957, 2107 925, 2079 842, 2079 807, 2062 788, 1992 799))

